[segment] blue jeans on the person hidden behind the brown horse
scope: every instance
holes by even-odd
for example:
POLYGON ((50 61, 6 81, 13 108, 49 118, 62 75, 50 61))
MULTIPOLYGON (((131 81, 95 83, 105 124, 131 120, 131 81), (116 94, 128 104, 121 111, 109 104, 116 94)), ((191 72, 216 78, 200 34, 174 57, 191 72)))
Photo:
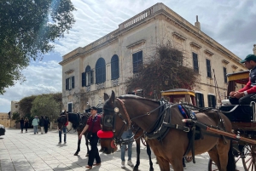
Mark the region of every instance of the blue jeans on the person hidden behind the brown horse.
MULTIPOLYGON (((130 130, 127 130, 125 131, 123 134, 122 134, 122 139, 125 140, 125 139, 129 139, 131 138, 132 136, 132 131, 131 129, 130 130)), ((128 161, 131 160, 131 154, 132 154, 132 141, 133 139, 129 140, 131 142, 128 143, 128 161)), ((121 160, 122 161, 125 161, 125 149, 126 149, 126 145, 122 145, 121 146, 121 160)))

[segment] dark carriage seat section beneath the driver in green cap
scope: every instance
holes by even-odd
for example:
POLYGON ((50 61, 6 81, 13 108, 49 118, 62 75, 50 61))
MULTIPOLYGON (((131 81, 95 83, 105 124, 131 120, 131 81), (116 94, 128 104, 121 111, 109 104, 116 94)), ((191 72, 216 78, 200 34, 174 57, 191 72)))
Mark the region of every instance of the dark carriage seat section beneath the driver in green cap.
MULTIPOLYGON (((219 111, 231 111, 236 105, 221 105, 219 111)), ((253 106, 238 105, 234 111, 224 113, 231 122, 251 123, 253 121, 253 106)))

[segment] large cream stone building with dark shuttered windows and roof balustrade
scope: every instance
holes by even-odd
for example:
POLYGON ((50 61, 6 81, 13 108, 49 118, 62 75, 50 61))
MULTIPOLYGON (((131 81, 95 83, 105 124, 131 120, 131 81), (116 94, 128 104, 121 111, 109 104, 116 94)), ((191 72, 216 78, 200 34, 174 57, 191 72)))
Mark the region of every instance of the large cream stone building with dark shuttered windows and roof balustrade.
MULTIPOLYGON (((196 17, 197 18, 197 17, 196 17)), ((99 105, 103 93, 127 94, 125 80, 136 74, 137 66, 153 53, 157 44, 171 41, 183 50, 189 66, 198 71, 201 82, 195 91, 200 105, 217 100, 212 70, 214 69, 220 99, 226 97, 226 73, 246 70, 241 60, 221 44, 172 11, 163 3, 119 24, 119 28, 84 48, 63 56, 62 102, 68 111, 84 111, 85 105, 99 105), (204 99, 204 100, 203 100, 204 99)))

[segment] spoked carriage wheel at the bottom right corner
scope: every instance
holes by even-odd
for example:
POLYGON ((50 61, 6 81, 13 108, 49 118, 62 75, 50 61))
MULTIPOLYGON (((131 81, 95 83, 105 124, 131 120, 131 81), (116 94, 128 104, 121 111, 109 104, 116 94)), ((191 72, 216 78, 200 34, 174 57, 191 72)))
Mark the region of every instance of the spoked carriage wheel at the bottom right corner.
POLYGON ((242 164, 245 171, 256 170, 256 146, 246 145, 243 149, 245 158, 242 158, 242 164))

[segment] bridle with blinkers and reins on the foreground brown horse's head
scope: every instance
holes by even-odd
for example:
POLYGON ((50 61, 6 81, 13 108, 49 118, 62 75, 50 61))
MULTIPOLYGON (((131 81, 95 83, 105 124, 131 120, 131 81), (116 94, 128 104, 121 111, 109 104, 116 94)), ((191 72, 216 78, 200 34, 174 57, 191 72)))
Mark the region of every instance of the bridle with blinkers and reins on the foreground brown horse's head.
MULTIPOLYGON (((114 112, 114 114, 111 115, 111 117, 113 117, 112 123, 110 123, 110 122, 111 122, 111 119, 109 119, 109 117, 105 118, 106 116, 104 115, 104 118, 103 118, 103 125, 106 126, 106 125, 111 124, 111 125, 112 125, 112 128, 113 128, 113 130, 112 130, 113 133, 116 133, 116 130, 115 130, 115 127, 116 127, 116 117, 119 116, 119 118, 120 118, 120 119, 122 120, 122 122, 123 122, 122 128, 121 128, 120 131, 119 131, 119 134, 118 134, 118 135, 113 134, 113 140, 114 140, 114 143, 115 143, 115 144, 123 144, 123 143, 127 143, 128 141, 131 142, 131 140, 133 139, 133 137, 134 137, 135 134, 134 134, 130 139, 125 139, 125 140, 122 140, 122 139, 121 139, 121 136, 122 136, 121 133, 123 132, 123 130, 124 130, 124 128, 125 128, 125 125, 127 126, 128 129, 131 129, 131 121, 132 121, 132 120, 134 120, 134 119, 136 119, 136 118, 139 118, 139 117, 148 116, 148 115, 150 115, 152 112, 158 110, 160 107, 163 106, 163 105, 160 105, 160 106, 158 106, 157 108, 155 108, 153 111, 148 111, 146 114, 143 114, 143 115, 137 116, 137 117, 133 117, 133 118, 130 119, 129 114, 128 114, 126 108, 125 108, 125 103, 124 103, 124 101, 120 100, 119 98, 116 98, 116 100, 119 101, 119 103, 120 103, 120 105, 121 105, 123 111, 125 112, 125 116, 127 117, 127 120, 128 120, 127 122, 125 121, 125 118, 122 117, 122 114, 119 112, 119 108, 118 108, 118 107, 113 107, 113 108, 105 108, 105 107, 103 107, 103 110, 104 110, 104 111, 113 111, 113 112, 114 112), (105 121, 105 120, 106 120, 106 121, 105 121), (106 124, 106 122, 107 122, 107 124, 106 124)), ((109 126, 107 126, 107 127, 109 127, 109 126)), ((139 130, 139 128, 138 128, 138 130, 139 130)), ((138 130, 137 130, 137 131, 138 131, 138 130)), ((144 133, 144 134, 146 134, 146 133, 144 133)), ((137 139, 139 139, 140 137, 142 137, 144 134, 142 134, 141 136, 139 136, 137 139)))

